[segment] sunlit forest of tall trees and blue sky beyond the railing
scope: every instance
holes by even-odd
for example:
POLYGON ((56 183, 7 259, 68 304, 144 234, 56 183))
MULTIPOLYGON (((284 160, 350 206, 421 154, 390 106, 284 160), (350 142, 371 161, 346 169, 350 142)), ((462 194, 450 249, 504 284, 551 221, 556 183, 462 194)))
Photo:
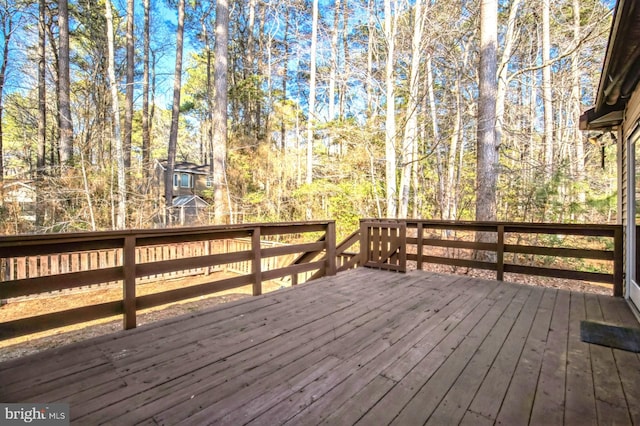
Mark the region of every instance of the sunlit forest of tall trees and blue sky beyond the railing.
POLYGON ((157 188, 154 160, 209 165, 211 223, 612 221, 614 141, 578 130, 611 14, 601 0, 0 0, 0 177, 37 194, 35 220, 3 203, 2 230, 161 223, 171 175, 157 188))

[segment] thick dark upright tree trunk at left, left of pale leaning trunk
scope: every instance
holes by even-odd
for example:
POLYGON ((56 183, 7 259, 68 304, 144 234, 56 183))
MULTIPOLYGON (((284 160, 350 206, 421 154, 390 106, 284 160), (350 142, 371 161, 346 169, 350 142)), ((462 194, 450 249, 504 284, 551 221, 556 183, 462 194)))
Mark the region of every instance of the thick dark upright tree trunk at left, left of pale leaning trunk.
POLYGON ((69 75, 69 9, 67 0, 58 0, 58 126, 60 128, 60 163, 62 168, 71 166, 73 160, 73 122, 71 121, 69 75))

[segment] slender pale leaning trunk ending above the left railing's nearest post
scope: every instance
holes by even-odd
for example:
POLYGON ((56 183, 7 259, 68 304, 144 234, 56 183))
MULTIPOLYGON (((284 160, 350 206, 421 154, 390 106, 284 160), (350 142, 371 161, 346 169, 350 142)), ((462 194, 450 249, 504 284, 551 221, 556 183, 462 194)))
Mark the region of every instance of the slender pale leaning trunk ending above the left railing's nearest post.
MULTIPOLYGON (((111 13, 111 1, 105 2, 105 18, 107 21, 107 50, 108 50, 108 74, 111 86, 111 119, 113 128, 113 144, 116 148, 115 162, 118 181, 118 208, 116 214, 116 229, 126 228, 127 216, 127 188, 125 180, 124 146, 120 134, 120 105, 118 102, 118 86, 115 71, 115 47, 113 39, 113 15, 111 13)), ((84 171, 84 164, 82 166, 84 171)))

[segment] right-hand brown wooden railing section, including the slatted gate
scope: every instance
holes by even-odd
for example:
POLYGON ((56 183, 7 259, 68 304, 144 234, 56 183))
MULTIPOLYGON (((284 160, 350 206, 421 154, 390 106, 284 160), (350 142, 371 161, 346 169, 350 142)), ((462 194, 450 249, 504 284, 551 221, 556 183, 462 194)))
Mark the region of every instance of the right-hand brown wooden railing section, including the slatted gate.
POLYGON ((590 281, 611 284, 614 295, 622 296, 621 225, 366 219, 361 221, 361 235, 361 247, 367 247, 362 262, 367 266, 405 271, 410 260, 418 269, 434 263, 492 270, 499 281, 505 273, 590 281), (477 241, 478 233, 484 241, 477 241), (551 245, 553 238, 571 240, 572 246, 551 245), (604 248, 590 248, 598 244, 604 248), (544 262, 536 262, 536 257, 565 261, 561 266, 541 266, 544 262), (576 260, 607 271, 584 270, 589 268, 576 265, 576 260))

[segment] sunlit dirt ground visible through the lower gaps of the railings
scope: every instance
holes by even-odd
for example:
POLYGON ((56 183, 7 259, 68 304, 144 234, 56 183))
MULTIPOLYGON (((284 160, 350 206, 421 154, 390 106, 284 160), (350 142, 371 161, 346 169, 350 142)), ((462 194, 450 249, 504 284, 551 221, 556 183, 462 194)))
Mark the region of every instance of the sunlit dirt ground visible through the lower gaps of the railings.
MULTIPOLYGON (((495 272, 470 270, 467 268, 454 268, 443 265, 430 265, 430 271, 439 273, 457 273, 468 276, 495 279, 495 272)), ((222 278, 222 276, 220 276, 222 278)), ((598 285, 583 283, 579 281, 569 281, 552 278, 542 278, 533 276, 523 276, 505 274, 505 280, 519 282, 523 284, 541 285, 558 289, 590 292, 598 294, 612 294, 609 285, 598 285)), ((143 284, 138 286, 138 294, 151 294, 160 291, 167 291, 174 288, 195 285, 202 282, 211 281, 211 277, 195 277, 174 279, 162 282, 143 284)), ((278 290, 288 286, 282 283, 264 283, 263 292, 278 290)), ((194 299, 184 300, 170 305, 158 306, 155 308, 140 311, 138 313, 138 325, 175 317, 207 309, 209 307, 239 300, 244 297, 251 297, 251 286, 245 286, 233 290, 219 292, 210 296, 201 296, 194 299)), ((0 306, 0 323, 32 316, 36 313, 44 314, 49 312, 63 311, 79 306, 87 306, 97 303, 104 303, 112 300, 119 300, 122 296, 121 288, 100 289, 94 291, 79 292, 75 294, 62 294, 46 298, 18 301, 0 306)), ((101 320, 76 324, 35 333, 27 336, 17 337, 0 341, 0 362, 25 355, 36 353, 45 349, 55 348, 91 337, 113 333, 122 329, 122 316, 114 316, 101 320)))

